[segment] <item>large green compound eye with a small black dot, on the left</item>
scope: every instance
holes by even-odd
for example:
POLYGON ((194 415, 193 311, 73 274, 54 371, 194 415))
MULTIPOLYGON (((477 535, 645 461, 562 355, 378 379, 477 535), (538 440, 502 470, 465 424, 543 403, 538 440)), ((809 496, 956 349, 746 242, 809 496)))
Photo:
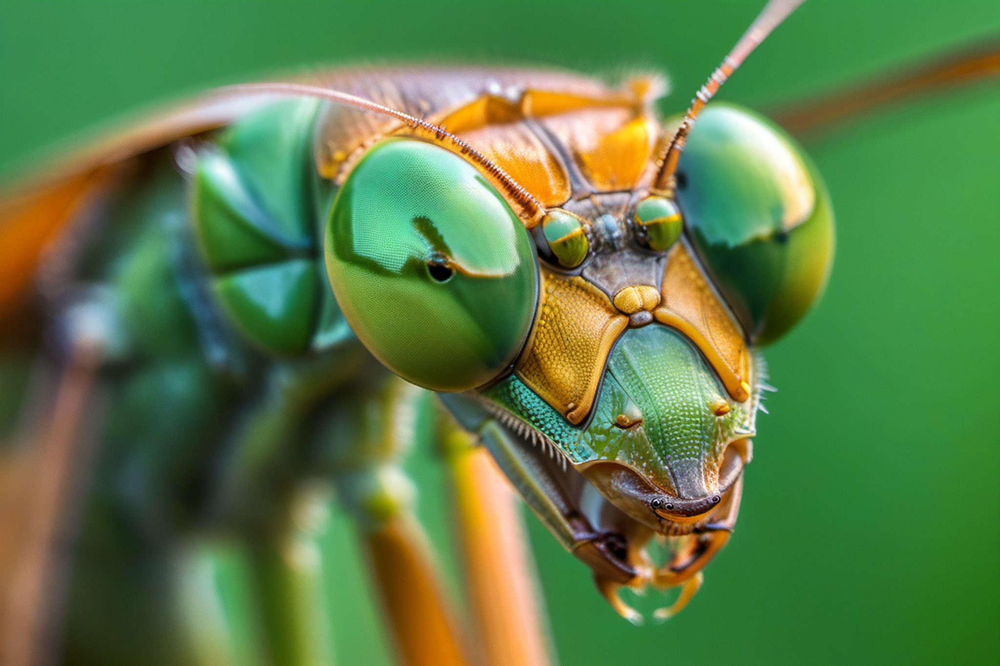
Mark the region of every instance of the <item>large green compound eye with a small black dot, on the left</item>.
POLYGON ((468 162, 413 139, 368 151, 337 195, 327 274, 361 341, 439 391, 503 372, 524 344, 538 263, 507 202, 468 162))

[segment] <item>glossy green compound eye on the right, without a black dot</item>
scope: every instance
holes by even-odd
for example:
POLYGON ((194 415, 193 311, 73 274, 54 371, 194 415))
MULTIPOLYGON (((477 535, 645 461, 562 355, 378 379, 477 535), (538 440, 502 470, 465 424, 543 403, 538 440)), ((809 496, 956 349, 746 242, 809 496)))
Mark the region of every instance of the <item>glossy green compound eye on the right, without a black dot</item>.
POLYGON ((833 212, 815 168, 756 114, 713 104, 677 170, 686 233, 751 339, 791 329, 826 283, 833 212))

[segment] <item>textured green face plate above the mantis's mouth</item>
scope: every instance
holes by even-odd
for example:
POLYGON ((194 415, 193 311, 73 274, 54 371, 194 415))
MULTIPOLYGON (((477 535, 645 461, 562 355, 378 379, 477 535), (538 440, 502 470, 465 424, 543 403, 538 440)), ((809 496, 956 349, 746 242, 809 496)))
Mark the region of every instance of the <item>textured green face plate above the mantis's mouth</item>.
POLYGON ((732 400, 694 345, 662 326, 622 335, 583 427, 570 425, 515 376, 483 396, 544 433, 574 464, 621 462, 661 487, 676 487, 682 468, 718 455, 754 427, 750 401, 732 400), (717 416, 713 407, 722 402, 729 409, 717 416))

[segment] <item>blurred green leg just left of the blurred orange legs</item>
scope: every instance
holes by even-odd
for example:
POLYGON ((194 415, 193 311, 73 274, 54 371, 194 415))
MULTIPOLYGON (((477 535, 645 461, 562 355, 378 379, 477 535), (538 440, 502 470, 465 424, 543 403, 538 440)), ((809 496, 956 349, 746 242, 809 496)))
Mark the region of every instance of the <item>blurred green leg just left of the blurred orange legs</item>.
MULTIPOLYGON (((326 369, 326 368, 320 368, 326 369)), ((307 501, 303 427, 329 392, 332 372, 292 367, 272 374, 256 410, 247 413, 217 478, 210 520, 235 535, 245 552, 247 600, 255 610, 264 664, 332 662, 329 618, 315 537, 297 520, 307 501)))

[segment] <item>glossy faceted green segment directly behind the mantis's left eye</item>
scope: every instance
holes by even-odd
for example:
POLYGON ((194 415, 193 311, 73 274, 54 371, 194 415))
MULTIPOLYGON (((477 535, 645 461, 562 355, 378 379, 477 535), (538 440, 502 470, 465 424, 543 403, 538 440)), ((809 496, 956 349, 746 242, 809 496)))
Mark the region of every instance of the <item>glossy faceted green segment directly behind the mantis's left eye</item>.
POLYGON ((312 160, 318 107, 269 107, 200 150, 194 165, 192 210, 215 295, 248 340, 285 356, 345 330, 317 242, 331 196, 312 160))

